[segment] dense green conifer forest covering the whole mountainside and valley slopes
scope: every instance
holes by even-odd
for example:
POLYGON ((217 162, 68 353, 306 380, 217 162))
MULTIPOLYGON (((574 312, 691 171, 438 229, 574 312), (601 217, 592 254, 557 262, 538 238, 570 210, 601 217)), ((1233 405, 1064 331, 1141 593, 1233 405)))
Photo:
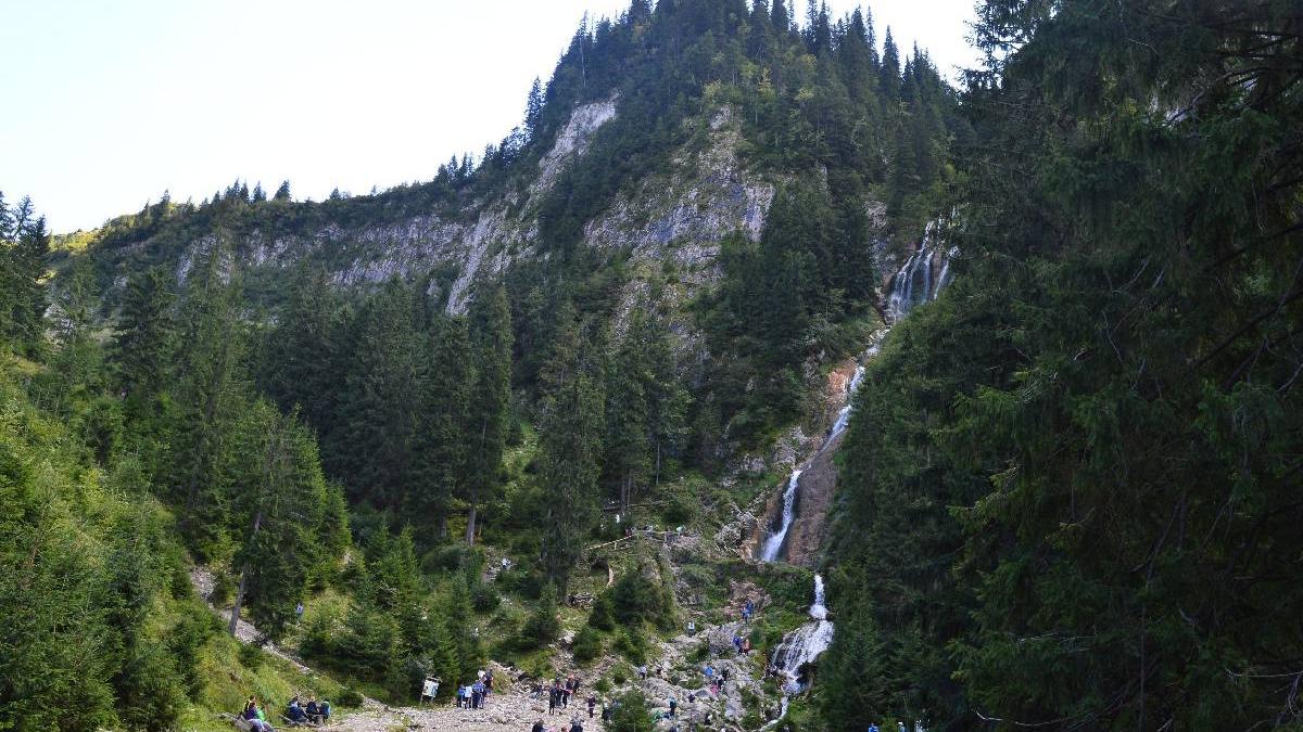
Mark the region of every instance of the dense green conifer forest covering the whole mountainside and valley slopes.
POLYGON ((0 729, 448 702, 490 662, 668 729, 638 668, 688 624, 736 651, 689 633, 657 683, 754 681, 711 729, 1303 727, 1303 10, 984 0, 973 42, 951 82, 869 8, 633 0, 427 182, 69 236, 7 191, 0 729), (592 245, 645 181, 723 176, 721 135, 769 195, 709 276, 592 245), (529 236, 464 301, 450 260, 341 274, 489 201, 529 236), (945 289, 899 317, 925 229, 945 289), (756 561, 805 458, 752 458, 827 435, 856 359, 826 535, 756 561))

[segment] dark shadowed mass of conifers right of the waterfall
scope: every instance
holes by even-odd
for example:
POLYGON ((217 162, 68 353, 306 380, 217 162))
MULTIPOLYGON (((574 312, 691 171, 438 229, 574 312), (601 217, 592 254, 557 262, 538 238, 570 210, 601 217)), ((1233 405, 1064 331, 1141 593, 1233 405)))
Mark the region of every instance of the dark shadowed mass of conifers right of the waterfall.
POLYGON ((831 728, 1299 722, 1298 44, 1158 5, 981 10, 963 257, 843 447, 831 728))

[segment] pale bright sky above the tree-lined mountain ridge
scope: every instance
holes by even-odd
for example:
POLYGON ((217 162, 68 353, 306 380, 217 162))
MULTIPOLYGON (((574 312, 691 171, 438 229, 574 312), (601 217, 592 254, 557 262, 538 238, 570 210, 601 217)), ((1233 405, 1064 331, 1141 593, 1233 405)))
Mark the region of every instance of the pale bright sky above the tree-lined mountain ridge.
MULTIPOLYGON (((975 0, 877 0, 880 36, 969 65, 975 0)), ((804 12, 804 1, 794 3, 804 12)), ((859 3, 833 0, 840 16, 859 3)), ((7 0, 0 190, 56 232, 236 178, 296 198, 429 180, 519 124, 580 18, 628 0, 7 0)))

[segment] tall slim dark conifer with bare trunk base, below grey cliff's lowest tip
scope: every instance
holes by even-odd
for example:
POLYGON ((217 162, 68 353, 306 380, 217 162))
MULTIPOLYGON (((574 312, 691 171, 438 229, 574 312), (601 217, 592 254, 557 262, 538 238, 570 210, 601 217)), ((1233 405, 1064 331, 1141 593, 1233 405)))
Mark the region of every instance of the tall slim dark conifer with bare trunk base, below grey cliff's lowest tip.
POLYGON ((476 378, 468 414, 465 498, 466 543, 474 544, 477 512, 481 500, 498 485, 511 415, 511 309, 506 289, 481 283, 469 317, 476 378))

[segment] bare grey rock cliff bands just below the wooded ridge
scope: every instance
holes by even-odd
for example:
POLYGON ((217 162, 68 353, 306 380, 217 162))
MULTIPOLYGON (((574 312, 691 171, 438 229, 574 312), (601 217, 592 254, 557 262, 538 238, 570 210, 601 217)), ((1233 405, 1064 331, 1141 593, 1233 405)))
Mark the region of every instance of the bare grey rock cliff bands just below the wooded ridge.
MULTIPOLYGON (((253 231, 238 241, 245 266, 278 272, 304 259, 328 262, 340 287, 367 287, 390 277, 453 272, 446 284, 448 309, 464 311, 470 284, 511 263, 543 257, 538 247, 538 204, 564 168, 582 156, 593 135, 619 115, 619 99, 580 106, 524 186, 470 203, 455 216, 416 215, 392 223, 344 227, 328 223, 310 234, 270 236, 253 231)), ((671 297, 685 301, 717 276, 715 255, 723 237, 743 232, 758 238, 774 197, 774 181, 744 165, 737 148, 740 125, 724 107, 697 120, 704 134, 678 150, 668 171, 637 182, 585 225, 586 246, 627 251, 635 264, 671 263, 679 283, 671 297), (704 142, 700 142, 702 141, 704 142)), ((177 274, 185 277, 195 247, 182 251, 177 274)), ((150 240, 124 251, 154 246, 150 240)), ((628 294, 637 292, 637 272, 628 294)))

